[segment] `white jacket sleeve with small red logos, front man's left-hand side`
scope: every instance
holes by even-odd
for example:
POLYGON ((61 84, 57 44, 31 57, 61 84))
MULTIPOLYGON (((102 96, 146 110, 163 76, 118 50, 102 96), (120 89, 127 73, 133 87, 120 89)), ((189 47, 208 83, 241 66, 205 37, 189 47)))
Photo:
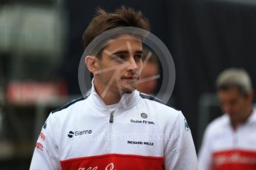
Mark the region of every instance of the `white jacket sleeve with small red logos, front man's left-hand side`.
POLYGON ((33 152, 30 170, 61 169, 52 117, 53 115, 50 114, 42 126, 42 131, 36 141, 36 148, 33 152))

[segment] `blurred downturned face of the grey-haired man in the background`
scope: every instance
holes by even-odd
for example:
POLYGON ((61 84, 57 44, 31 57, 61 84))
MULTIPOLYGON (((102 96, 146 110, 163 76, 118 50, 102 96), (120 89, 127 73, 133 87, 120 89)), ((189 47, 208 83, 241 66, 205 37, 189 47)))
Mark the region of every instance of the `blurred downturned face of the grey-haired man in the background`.
POLYGON ((223 112, 227 113, 232 120, 243 118, 251 104, 249 95, 242 95, 237 88, 219 90, 218 97, 223 112))

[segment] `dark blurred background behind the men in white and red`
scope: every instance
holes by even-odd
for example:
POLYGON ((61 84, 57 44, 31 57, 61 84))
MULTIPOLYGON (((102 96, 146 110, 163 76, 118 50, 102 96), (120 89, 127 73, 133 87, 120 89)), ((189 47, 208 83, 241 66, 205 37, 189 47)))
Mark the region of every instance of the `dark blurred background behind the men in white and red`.
POLYGON ((28 169, 51 110, 81 95, 82 33, 96 7, 141 10, 171 52, 171 104, 183 111, 199 149, 206 125, 221 115, 214 83, 244 68, 255 86, 256 1, 0 0, 0 169, 28 169))

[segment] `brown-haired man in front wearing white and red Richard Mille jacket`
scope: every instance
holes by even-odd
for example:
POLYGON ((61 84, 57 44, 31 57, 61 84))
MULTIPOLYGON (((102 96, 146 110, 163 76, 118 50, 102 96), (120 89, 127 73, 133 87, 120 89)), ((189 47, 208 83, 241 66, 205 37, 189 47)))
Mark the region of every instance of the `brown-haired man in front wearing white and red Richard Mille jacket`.
MULTIPOLYGON (((148 30, 149 25, 130 8, 99 9, 83 35, 85 47, 116 27, 148 30)), ((100 52, 88 54, 85 64, 93 73, 91 94, 50 113, 30 169, 197 169, 182 112, 136 90, 140 37, 115 36, 100 52)))

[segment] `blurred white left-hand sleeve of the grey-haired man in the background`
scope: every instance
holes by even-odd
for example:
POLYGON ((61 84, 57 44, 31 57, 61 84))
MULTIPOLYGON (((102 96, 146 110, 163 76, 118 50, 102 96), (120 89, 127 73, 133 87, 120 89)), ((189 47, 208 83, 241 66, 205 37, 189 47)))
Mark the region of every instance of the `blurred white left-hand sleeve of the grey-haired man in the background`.
POLYGON ((206 128, 206 132, 203 135, 203 142, 198 154, 198 162, 200 170, 210 170, 211 169, 211 140, 209 133, 209 127, 206 128))

